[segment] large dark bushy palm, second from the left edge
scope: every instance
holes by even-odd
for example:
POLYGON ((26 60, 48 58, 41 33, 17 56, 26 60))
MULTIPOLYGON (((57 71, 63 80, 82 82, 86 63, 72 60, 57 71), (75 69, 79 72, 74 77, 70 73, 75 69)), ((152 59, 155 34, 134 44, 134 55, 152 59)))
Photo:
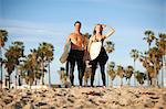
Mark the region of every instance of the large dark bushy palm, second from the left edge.
POLYGON ((19 65, 19 58, 23 56, 23 43, 22 42, 13 42, 11 46, 7 50, 4 56, 4 68, 8 72, 8 81, 10 88, 10 75, 19 65))

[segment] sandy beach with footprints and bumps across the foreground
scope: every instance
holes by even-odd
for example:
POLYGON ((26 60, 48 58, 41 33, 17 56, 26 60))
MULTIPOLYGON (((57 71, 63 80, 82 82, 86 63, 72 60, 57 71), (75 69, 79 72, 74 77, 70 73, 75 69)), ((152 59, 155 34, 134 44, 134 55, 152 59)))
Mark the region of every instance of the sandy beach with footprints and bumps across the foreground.
POLYGON ((0 109, 166 109, 166 88, 1 89, 0 109))

